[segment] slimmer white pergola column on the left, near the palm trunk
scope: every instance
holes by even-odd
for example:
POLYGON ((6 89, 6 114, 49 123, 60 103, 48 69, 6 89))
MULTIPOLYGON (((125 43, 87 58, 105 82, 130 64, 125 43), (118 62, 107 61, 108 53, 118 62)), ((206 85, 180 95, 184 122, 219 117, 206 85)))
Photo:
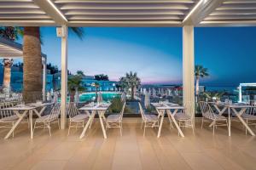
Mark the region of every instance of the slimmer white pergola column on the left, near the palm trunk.
POLYGON ((61 129, 67 127, 67 26, 62 26, 61 37, 61 129))

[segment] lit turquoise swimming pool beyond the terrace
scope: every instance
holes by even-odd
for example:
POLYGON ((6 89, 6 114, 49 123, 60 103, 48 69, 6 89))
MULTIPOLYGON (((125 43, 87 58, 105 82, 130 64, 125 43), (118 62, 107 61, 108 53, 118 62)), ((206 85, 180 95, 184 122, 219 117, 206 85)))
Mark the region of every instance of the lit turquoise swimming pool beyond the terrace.
MULTIPOLYGON (((101 92, 103 101, 110 101, 115 97, 120 97, 119 92, 101 92)), ((79 95, 80 102, 86 102, 96 99, 96 93, 85 93, 79 95)))

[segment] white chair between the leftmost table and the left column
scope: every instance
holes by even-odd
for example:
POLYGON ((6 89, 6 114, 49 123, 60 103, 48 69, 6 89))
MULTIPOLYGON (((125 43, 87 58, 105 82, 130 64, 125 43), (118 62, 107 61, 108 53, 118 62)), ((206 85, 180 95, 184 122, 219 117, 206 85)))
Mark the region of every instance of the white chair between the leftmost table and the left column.
POLYGON ((44 115, 41 117, 38 117, 35 121, 33 132, 35 131, 35 128, 45 128, 47 127, 49 129, 49 136, 51 136, 50 133, 50 123, 58 123, 58 127, 60 128, 60 122, 59 122, 59 116, 61 114, 60 111, 60 104, 53 105, 49 115, 44 115))

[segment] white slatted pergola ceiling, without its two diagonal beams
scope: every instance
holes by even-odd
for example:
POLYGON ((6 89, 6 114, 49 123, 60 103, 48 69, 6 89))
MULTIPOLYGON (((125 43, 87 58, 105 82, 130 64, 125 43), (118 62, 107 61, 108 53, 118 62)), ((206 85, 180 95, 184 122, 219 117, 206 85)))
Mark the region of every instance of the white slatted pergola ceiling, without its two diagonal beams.
MULTIPOLYGON (((51 2, 67 19, 68 26, 183 26, 183 20, 199 0, 51 2)), ((0 0, 0 26, 59 26, 52 16, 34 0, 0 0)), ((242 24, 256 26, 256 0, 224 0, 224 3, 207 15, 198 26, 242 24)))

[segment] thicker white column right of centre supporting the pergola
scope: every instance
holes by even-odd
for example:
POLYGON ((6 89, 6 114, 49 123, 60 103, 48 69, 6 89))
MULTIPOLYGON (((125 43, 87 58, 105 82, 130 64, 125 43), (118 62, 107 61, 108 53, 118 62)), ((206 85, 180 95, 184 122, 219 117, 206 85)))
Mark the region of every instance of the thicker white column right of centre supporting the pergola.
POLYGON ((194 26, 183 26, 183 104, 195 102, 194 70, 194 26))

